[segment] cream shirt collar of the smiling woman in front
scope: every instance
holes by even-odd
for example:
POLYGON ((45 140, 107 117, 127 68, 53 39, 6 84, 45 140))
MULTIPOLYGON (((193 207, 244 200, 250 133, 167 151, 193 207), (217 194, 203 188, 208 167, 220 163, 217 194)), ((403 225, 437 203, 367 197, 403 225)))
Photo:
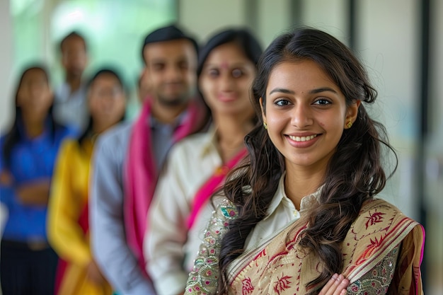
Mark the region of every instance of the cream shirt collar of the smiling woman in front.
MULTIPOLYGON (((284 172, 282 174, 282 176, 280 177, 280 180, 279 180, 279 183, 278 183, 278 187, 277 187, 277 191, 275 192, 275 195, 272 198, 272 201, 271 201, 269 207, 267 208, 267 214, 266 214, 265 219, 267 218, 267 216, 270 216, 273 212, 275 212, 277 207, 282 202, 288 202, 289 201, 292 204, 292 201, 287 197, 286 192, 284 192, 284 176, 285 175, 286 175, 286 172, 284 172)), ((300 210, 299 210, 299 212, 301 213, 301 212, 306 211, 306 209, 311 208, 311 206, 315 202, 318 202, 318 198, 320 197, 322 190, 323 190, 323 185, 321 185, 321 187, 318 187, 318 190, 316 190, 312 194, 304 196, 301 199, 301 202, 300 202, 300 210)), ((294 204, 292 204, 292 205, 294 205, 294 204)))

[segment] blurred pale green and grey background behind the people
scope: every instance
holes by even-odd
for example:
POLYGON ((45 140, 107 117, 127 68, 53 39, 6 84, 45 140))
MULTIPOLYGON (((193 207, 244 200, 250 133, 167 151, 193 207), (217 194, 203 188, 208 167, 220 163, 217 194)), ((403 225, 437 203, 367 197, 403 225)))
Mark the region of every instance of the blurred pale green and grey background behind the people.
MULTIPOLYGON (((86 74, 118 66, 132 89, 151 30, 176 22, 205 41, 244 25, 266 47, 299 25, 321 28, 362 59, 379 91, 371 110, 386 125, 399 166, 381 197, 425 226, 425 294, 443 294, 443 1, 442 0, 0 0, 0 128, 13 120, 13 85, 23 66, 42 61, 62 82, 59 41, 86 36, 86 74)), ((1 212, 0 212, 1 214, 1 212)))

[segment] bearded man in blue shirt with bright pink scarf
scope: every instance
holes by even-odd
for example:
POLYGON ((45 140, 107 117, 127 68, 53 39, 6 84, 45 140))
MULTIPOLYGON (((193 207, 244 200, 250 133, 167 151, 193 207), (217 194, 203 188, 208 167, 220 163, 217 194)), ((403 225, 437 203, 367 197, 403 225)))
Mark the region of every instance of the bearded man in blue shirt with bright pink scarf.
POLYGON ((103 134, 93 155, 91 238, 100 270, 121 295, 154 294, 142 253, 146 214, 173 144, 205 126, 197 98, 197 43, 175 25, 142 47, 151 91, 132 124, 103 134))

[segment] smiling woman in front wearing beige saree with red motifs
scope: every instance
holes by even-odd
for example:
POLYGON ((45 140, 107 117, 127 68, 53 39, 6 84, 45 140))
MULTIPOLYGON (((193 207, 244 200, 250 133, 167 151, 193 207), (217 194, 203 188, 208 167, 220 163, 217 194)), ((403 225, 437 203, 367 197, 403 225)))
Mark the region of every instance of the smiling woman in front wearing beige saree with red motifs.
POLYGON ((303 28, 270 44, 253 84, 260 125, 186 294, 422 294, 424 230, 376 197, 389 177, 382 155, 396 154, 365 110, 375 100, 335 37, 303 28))

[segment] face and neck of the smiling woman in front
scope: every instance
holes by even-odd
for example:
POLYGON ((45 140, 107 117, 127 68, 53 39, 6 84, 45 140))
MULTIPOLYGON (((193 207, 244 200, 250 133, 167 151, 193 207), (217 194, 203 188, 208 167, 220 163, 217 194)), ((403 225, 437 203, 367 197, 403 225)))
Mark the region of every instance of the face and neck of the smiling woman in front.
POLYGON ((263 122, 284 156, 288 177, 319 176, 312 187, 295 190, 290 196, 297 207, 304 195, 321 184, 321 171, 335 153, 345 124, 356 120, 360 101, 347 106, 340 88, 310 59, 275 66, 266 92, 266 100, 260 99, 263 122))

